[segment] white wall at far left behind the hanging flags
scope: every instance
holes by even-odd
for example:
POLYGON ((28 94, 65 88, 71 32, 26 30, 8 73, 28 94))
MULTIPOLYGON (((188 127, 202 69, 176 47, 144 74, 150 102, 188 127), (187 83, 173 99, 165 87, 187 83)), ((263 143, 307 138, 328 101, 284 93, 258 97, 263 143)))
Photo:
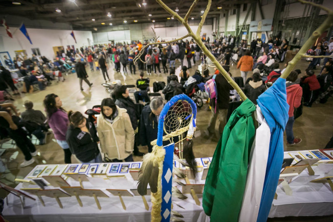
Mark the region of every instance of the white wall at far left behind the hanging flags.
POLYGON ((88 39, 91 44, 94 44, 93 35, 91 31, 74 31, 74 39, 71 37, 71 30, 54 30, 54 29, 39 29, 27 28, 31 42, 16 27, 9 27, 11 32, 14 33, 13 39, 9 38, 6 34, 5 28, 0 27, 0 51, 8 51, 10 56, 15 56, 16 50, 26 50, 28 56, 31 56, 32 48, 39 48, 42 55, 48 59, 54 58, 53 48, 55 46, 63 46, 65 49, 68 45, 74 45, 75 48, 81 46, 88 46, 88 39), (16 31, 17 30, 17 31, 16 31))

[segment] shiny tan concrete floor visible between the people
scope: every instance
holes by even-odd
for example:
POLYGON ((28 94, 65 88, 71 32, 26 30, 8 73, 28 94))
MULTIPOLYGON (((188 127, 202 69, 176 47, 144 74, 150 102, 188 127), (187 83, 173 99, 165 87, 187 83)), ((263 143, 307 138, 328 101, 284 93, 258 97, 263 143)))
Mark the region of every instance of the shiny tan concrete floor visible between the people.
MULTIPOLYGON (((185 61, 184 61, 185 62, 185 61)), ((197 63, 198 64, 198 63, 197 63)), ((176 62, 176 74, 180 72, 180 63, 176 62)), ((280 64, 282 69, 283 64, 280 64)), ((296 69, 301 69, 302 72, 307 68, 308 63, 301 61, 296 69)), ((113 65, 108 71, 112 80, 119 79, 122 84, 135 84, 137 78, 139 78, 139 72, 137 71, 136 75, 132 74, 119 74, 115 73, 113 70, 113 65)), ((161 67, 162 68, 162 67, 161 67)), ((194 74, 196 66, 190 69, 190 75, 194 74)), ((80 91, 78 78, 76 74, 70 74, 66 76, 65 82, 52 82, 51 86, 48 86, 44 91, 37 91, 32 94, 21 94, 21 96, 16 96, 14 104, 20 109, 21 112, 24 111, 23 103, 25 100, 31 100, 34 103, 34 109, 42 110, 43 99, 46 95, 50 93, 55 93, 58 95, 62 102, 63 108, 67 111, 80 111, 84 113, 87 109, 92 108, 94 105, 100 104, 101 100, 109 97, 109 94, 105 91, 104 87, 101 86, 103 82, 103 76, 100 72, 91 72, 87 67, 87 72, 89 75, 89 80, 94 83, 93 87, 89 89, 86 83, 83 83, 84 91, 80 91)), ((163 69, 162 69, 163 72, 163 69)), ((211 70, 211 72, 213 72, 211 70)), ((129 73, 129 72, 128 72, 129 73)), ((240 71, 236 69, 235 66, 231 67, 230 73, 233 76, 240 76, 240 71)), ((317 69, 316 74, 319 71, 317 69)), ((251 75, 251 74, 249 74, 251 75)), ((302 76, 301 74, 300 76, 302 76)), ((150 78, 150 86, 152 88, 152 82, 154 81, 165 81, 166 82, 167 74, 159 74, 151 76, 145 76, 150 78)), ((299 77, 300 77, 299 76, 299 77)), ((152 91, 152 90, 151 90, 152 91)), ((330 140, 333 134, 333 118, 332 118, 332 108, 333 108, 333 99, 330 98, 326 104, 313 104, 311 108, 304 107, 303 115, 295 121, 294 124, 294 134, 302 138, 302 143, 292 147, 286 147, 285 150, 304 150, 304 149, 319 149, 324 148, 327 142, 330 140)), ((194 154, 196 157, 210 157, 213 156, 216 144, 218 142, 217 138, 205 139, 203 138, 203 130, 208 126, 211 116, 211 111, 208 108, 208 105, 204 105, 201 109, 198 110, 197 114, 197 131, 201 132, 201 136, 194 138, 194 154)), ((217 130, 217 128, 216 128, 217 130)), ((18 148, 15 148, 14 145, 10 143, 4 144, 2 147, 6 148, 4 154, 2 154, 1 159, 6 164, 8 168, 5 173, 5 178, 0 181, 10 185, 12 187, 16 186, 14 179, 23 178, 27 173, 29 173, 36 164, 62 164, 64 163, 64 153, 62 148, 55 142, 53 135, 51 134, 48 137, 48 143, 43 146, 36 146, 37 151, 39 151, 39 156, 37 156, 36 163, 25 168, 20 168, 19 164, 23 162, 24 156, 18 148)), ((147 152, 143 148, 140 148, 142 152, 147 152)), ((141 161, 141 157, 134 157, 135 161, 141 161)), ((78 163, 78 161, 72 157, 72 163, 78 163)), ((1 194, 0 194, 1 195, 1 194)), ((3 195, 3 194, 2 194, 3 195)), ((1 196, 2 196, 1 195, 1 196)), ((2 196, 3 197, 3 196, 2 196)), ((290 218, 287 221, 317 221, 307 219, 295 219, 290 218)), ((332 221, 332 218, 320 218, 320 221, 332 221)), ((269 221, 279 221, 278 219, 270 219, 269 221)), ((284 220, 285 221, 285 220, 284 220)))

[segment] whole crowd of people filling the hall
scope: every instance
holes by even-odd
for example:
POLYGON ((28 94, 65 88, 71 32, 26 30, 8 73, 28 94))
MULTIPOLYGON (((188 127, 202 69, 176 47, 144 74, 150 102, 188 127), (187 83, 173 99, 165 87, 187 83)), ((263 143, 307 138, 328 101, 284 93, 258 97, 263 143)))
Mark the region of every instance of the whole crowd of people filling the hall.
MULTIPOLYGON (((328 46, 324 51, 325 54, 332 53, 333 38, 329 43, 324 42, 325 40, 328 39, 324 38, 321 44, 317 43, 315 50, 324 45, 328 46)), ((258 97, 284 72, 284 69, 280 70, 278 62, 284 61, 288 42, 286 40, 280 42, 276 38, 274 41, 269 39, 268 44, 257 39, 248 46, 246 41, 239 42, 239 38, 235 36, 215 40, 214 44, 206 42, 206 46, 212 50, 216 58, 220 59, 223 68, 231 76, 230 66, 237 64, 241 77, 232 76, 232 78, 255 104, 258 97), (271 44, 272 49, 269 49, 268 44, 271 44), (248 76, 250 72, 252 75, 248 76)), ((36 61, 36 56, 33 55, 31 59, 24 58, 24 61, 21 61, 20 58, 17 58, 14 60, 14 64, 6 63, 6 65, 7 67, 11 65, 10 68, 18 68, 22 74, 30 73, 29 78, 34 76, 37 78, 34 81, 39 82, 42 81, 38 76, 45 76, 41 79, 46 79, 46 82, 48 82, 48 78, 52 80, 55 77, 60 77, 58 80, 64 80, 61 78, 62 73, 68 71, 67 65, 69 65, 70 72, 75 70, 79 77, 81 90, 83 90, 83 81, 89 87, 92 86, 87 79, 86 66, 92 72, 100 70, 105 82, 108 82, 110 81, 108 74, 110 64, 114 66, 115 72, 123 74, 127 74, 127 65, 129 65, 131 74, 136 74, 137 70, 140 72, 136 85, 139 92, 145 92, 149 90, 150 82, 149 78, 144 78, 145 73, 148 76, 152 73, 161 73, 160 63, 162 63, 164 73, 169 73, 166 84, 160 89, 165 95, 166 101, 183 93, 191 97, 196 91, 204 92, 205 84, 214 79, 218 97, 210 99, 212 116, 204 134, 208 137, 215 135, 215 123, 219 120, 218 131, 221 135, 227 122, 230 102, 236 101, 239 104, 241 101, 237 92, 218 70, 215 69, 214 74, 210 74, 208 69, 204 69, 202 72, 191 69, 192 65, 197 62, 207 62, 198 45, 188 40, 150 45, 140 54, 140 59, 135 65, 133 60, 145 45, 146 43, 134 41, 132 44, 110 44, 85 49, 82 47, 59 53, 53 62, 45 57, 38 57, 39 59, 36 61), (187 66, 184 65, 185 58, 187 66), (176 60, 179 60, 181 66, 179 77, 175 75, 176 60)), ((296 110, 300 110, 298 108, 302 104, 311 107, 316 101, 324 103, 333 93, 332 60, 325 59, 320 74, 316 76, 313 68, 318 64, 321 64, 320 58, 319 61, 316 59, 315 63, 312 60, 304 74, 300 70, 295 70, 286 79, 287 102, 290 106, 289 120, 285 128, 288 146, 299 144, 302 141, 300 138, 294 137, 292 130, 293 123, 299 116, 299 114, 294 116, 297 113, 296 110)), ((9 71, 3 66, 1 66, 1 71, 0 79, 5 83, 3 91, 9 86, 14 95, 17 94, 17 88, 12 88, 15 87, 15 84, 9 78, 9 71)), ((55 94, 48 94, 44 99, 46 116, 41 111, 34 110, 31 101, 24 103, 26 111, 22 113, 21 118, 12 103, 2 103, 0 104, 1 137, 4 135, 11 137, 22 150, 25 156, 22 167, 32 164, 34 162, 32 156, 36 155, 36 148, 28 135, 35 135, 41 145, 45 144, 48 127, 52 129, 56 142, 64 150, 65 163, 71 163, 72 154, 82 163, 130 162, 133 161, 133 155, 143 155, 139 151, 139 145, 147 146, 148 152, 151 152, 150 142, 157 138, 158 119, 164 106, 164 100, 162 97, 154 98, 151 101, 147 98, 145 102, 148 103, 144 107, 138 108, 138 101, 134 102, 129 97, 127 87, 120 85, 115 88, 112 98, 101 101, 101 115, 97 117, 95 123, 78 111, 67 111, 62 106, 61 99, 55 94)))

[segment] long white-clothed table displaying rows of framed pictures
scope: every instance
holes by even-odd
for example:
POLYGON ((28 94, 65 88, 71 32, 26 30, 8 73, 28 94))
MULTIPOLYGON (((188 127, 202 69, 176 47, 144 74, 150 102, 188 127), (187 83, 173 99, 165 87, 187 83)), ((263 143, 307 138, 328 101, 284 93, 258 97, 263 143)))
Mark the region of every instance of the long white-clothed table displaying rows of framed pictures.
MULTIPOLYGON (((285 152, 285 156, 288 156, 285 152)), ((196 184, 204 184, 205 176, 208 172, 209 164, 212 157, 196 158, 199 167, 199 180, 196 184)), ((295 164, 296 159, 293 161, 295 164)), ((142 162, 121 162, 121 163, 99 163, 99 164, 70 164, 70 165, 37 165, 24 179, 25 180, 41 180, 41 176, 47 169, 51 169, 50 175, 62 175, 64 180, 71 187, 84 187, 84 189, 101 190, 106 198, 98 197, 100 210, 96 206, 94 197, 79 196, 82 202, 82 207, 79 206, 75 196, 60 197, 63 208, 60 208, 57 201, 52 197, 42 196, 45 206, 42 205, 39 198, 32 193, 27 193, 32 197, 36 197, 36 201, 25 198, 24 207, 21 200, 9 194, 4 201, 3 216, 10 222, 104 222, 112 221, 128 221, 128 222, 146 222, 150 221, 151 201, 150 196, 145 196, 149 210, 143 203, 143 198, 137 196, 137 181, 133 177, 137 177, 136 173, 141 167, 142 162), (59 170, 57 170, 59 169, 59 170), (88 181, 77 181, 72 175, 66 174, 81 173, 88 176, 88 181), (41 176, 39 176, 41 175, 41 176), (119 200, 119 197, 110 193, 108 190, 127 190, 128 195, 122 196, 121 199, 125 205, 119 200), (125 210, 126 209, 126 210, 125 210)), ((176 167, 188 170, 178 162, 175 162, 176 167)), ((277 199, 274 199, 272 208, 269 214, 273 217, 286 216, 324 216, 333 214, 333 191, 328 183, 314 183, 310 180, 333 175, 332 159, 320 160, 312 166, 314 175, 309 175, 308 169, 302 173, 292 177, 289 182, 289 187, 292 195, 286 194, 284 187, 280 184, 277 188, 277 199), (310 177, 309 177, 310 176, 310 177), (305 178, 309 177, 309 178, 305 178)), ((189 173, 190 175, 190 173, 189 173)), ((291 178, 291 177, 290 177, 291 178)), ((48 184, 47 181, 45 181, 48 184)), ((61 181, 63 183, 63 181, 61 181)), ((184 181, 185 183, 185 181, 184 181)), ((190 179, 190 183, 194 183, 190 179)), ((39 188, 37 185, 32 185, 28 182, 20 183, 15 189, 25 192, 26 188, 39 188)), ((59 187, 46 186, 44 189, 61 189, 59 187)), ((65 189, 65 188, 64 188, 65 189)), ((181 188, 180 188, 181 189, 181 188)), ((188 198, 180 200, 172 197, 173 210, 184 216, 182 220, 186 222, 208 222, 209 217, 204 213, 202 208, 202 195, 197 194, 198 201, 191 196, 185 194, 188 198), (178 205, 180 205, 181 208, 178 205)))

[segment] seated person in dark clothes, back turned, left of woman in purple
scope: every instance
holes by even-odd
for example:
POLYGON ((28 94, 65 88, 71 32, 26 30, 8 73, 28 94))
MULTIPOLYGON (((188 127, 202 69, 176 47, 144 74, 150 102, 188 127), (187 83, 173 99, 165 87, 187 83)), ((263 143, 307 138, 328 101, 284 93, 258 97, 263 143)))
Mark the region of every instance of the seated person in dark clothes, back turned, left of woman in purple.
POLYGON ((32 101, 24 102, 25 111, 21 114, 21 117, 24 121, 29 121, 36 123, 36 130, 32 132, 33 135, 39 140, 39 145, 46 143, 46 134, 43 132, 43 129, 46 130, 46 127, 43 127, 43 124, 46 121, 46 117, 40 110, 34 110, 32 101), (38 126, 37 126, 38 125, 38 126))

